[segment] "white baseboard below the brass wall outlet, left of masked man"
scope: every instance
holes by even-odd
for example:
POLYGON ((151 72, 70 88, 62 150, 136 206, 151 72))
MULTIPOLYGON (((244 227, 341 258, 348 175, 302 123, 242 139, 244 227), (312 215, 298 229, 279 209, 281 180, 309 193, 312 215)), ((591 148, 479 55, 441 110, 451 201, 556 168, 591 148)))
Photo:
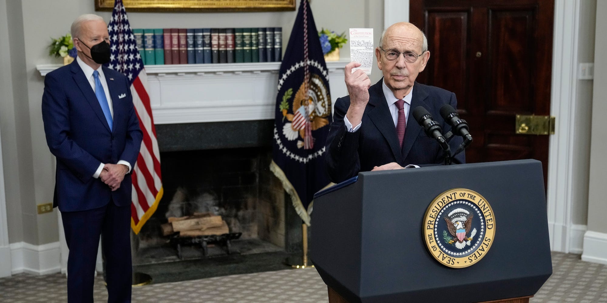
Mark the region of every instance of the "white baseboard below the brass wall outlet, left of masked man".
POLYGON ((32 245, 25 242, 10 244, 11 273, 48 275, 61 271, 59 242, 32 245))

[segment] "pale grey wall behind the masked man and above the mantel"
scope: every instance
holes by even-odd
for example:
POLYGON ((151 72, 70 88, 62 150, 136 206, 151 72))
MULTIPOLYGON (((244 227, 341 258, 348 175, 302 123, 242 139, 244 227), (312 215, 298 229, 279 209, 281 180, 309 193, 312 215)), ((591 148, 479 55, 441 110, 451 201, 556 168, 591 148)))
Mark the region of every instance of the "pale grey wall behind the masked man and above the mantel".
MULTIPOLYGON (((382 2, 312 0, 311 8, 317 28, 330 28, 341 33, 350 27, 373 27, 376 29, 376 41, 379 41, 379 33, 383 30, 382 2), (348 10, 345 13, 344 7, 360 9, 348 10)), ((60 62, 59 59, 47 55, 49 38, 69 32, 76 16, 95 13, 93 3, 93 0, 0 0, 0 5, 6 7, 8 16, 7 19, 0 18, 0 38, 7 35, 4 28, 8 28, 10 47, 10 52, 7 52, 7 45, 0 45, 0 59, 2 70, 12 71, 8 78, 2 78, 0 84, 4 175, 10 176, 5 178, 5 184, 11 243, 41 245, 59 239, 56 210, 53 213, 36 215, 36 204, 52 201, 54 185, 54 159, 46 146, 40 111, 44 78, 39 75, 36 65, 60 62), (9 64, 10 68, 5 68, 9 64)), ((109 21, 110 12, 97 13, 109 21)), ((284 49, 295 16, 296 11, 129 13, 129 21, 133 28, 282 27, 284 49)), ((342 58, 348 58, 349 52, 346 45, 342 50, 342 58)), ((378 81, 381 73, 376 68, 373 72, 375 75, 371 78, 378 81)), ((333 96, 337 97, 339 96, 333 96)))

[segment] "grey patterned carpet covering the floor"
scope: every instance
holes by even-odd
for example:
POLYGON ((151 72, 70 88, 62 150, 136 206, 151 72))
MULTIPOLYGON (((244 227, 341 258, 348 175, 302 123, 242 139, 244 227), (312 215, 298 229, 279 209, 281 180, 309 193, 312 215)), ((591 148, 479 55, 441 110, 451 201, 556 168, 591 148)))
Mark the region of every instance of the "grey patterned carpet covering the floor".
MULTIPOLYGON (((554 273, 531 302, 607 302, 607 266, 565 253, 552 253, 552 264, 554 273)), ((66 302, 66 278, 60 274, 2 278, 0 302, 66 302)), ((107 302, 100 277, 95 302, 107 302)), ((328 299, 317 271, 306 268, 145 285, 133 288, 133 302, 327 303, 328 299)))

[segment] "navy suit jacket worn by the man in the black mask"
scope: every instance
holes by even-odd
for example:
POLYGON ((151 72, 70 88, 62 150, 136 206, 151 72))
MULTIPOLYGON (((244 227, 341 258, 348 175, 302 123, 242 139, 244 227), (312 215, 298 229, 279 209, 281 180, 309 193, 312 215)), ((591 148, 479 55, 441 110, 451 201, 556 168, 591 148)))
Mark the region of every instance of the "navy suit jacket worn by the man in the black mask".
POLYGON ((112 132, 76 60, 44 79, 42 120, 50 152, 57 158, 53 205, 61 211, 102 207, 110 198, 118 206, 131 203, 130 174, 116 191, 93 178, 101 162, 124 160, 135 168, 143 137, 126 77, 106 67, 103 73, 114 108, 112 132))

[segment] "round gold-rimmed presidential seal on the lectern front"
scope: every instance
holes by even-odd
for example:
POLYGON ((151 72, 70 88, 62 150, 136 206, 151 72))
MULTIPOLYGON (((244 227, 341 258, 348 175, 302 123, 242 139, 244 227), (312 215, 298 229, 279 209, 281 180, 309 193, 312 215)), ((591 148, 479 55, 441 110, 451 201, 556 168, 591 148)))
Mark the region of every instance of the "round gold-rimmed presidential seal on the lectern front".
POLYGON ((464 268, 480 261, 493 244, 495 216, 479 193, 454 188, 437 196, 424 216, 424 239, 441 264, 464 268))

